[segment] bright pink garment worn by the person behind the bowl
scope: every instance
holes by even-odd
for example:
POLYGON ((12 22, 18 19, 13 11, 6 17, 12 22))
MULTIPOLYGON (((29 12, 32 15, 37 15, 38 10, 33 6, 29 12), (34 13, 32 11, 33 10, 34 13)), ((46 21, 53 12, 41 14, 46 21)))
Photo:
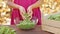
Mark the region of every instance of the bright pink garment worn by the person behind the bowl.
MULTIPOLYGON (((14 3, 23 6, 26 10, 27 8, 34 4, 36 1, 38 0, 14 0, 14 3)), ((33 17, 37 17, 38 18, 38 25, 41 25, 41 12, 39 10, 39 7, 33 9, 33 17)), ((12 16, 11 16, 11 24, 14 24, 14 18, 18 17, 20 20, 22 20, 22 17, 19 13, 18 9, 13 9, 12 11, 12 16)))

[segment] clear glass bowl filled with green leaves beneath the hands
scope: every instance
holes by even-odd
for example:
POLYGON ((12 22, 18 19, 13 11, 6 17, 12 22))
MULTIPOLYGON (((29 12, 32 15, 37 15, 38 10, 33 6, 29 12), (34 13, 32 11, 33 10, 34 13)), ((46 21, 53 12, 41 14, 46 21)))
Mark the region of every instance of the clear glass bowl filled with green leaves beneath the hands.
POLYGON ((18 24, 16 24, 17 25, 17 27, 19 28, 19 29, 23 29, 23 30, 30 30, 30 29, 33 29, 33 28, 35 28, 35 26, 37 25, 37 23, 38 23, 38 19, 36 18, 36 17, 33 17, 29 22, 25 22, 24 21, 24 23, 22 23, 21 21, 18 23, 18 24))

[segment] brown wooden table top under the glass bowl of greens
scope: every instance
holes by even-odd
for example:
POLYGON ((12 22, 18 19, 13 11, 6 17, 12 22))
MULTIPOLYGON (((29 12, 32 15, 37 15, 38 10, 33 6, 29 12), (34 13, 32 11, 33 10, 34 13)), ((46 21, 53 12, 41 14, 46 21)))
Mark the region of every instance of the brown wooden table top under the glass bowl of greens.
POLYGON ((32 30, 21 30, 21 29, 18 29, 16 26, 11 26, 12 28, 14 28, 16 30, 16 33, 17 34, 52 34, 52 33, 49 33, 49 32, 44 32, 41 28, 41 26, 36 26, 35 29, 32 29, 32 30))

